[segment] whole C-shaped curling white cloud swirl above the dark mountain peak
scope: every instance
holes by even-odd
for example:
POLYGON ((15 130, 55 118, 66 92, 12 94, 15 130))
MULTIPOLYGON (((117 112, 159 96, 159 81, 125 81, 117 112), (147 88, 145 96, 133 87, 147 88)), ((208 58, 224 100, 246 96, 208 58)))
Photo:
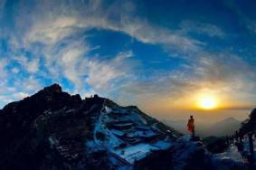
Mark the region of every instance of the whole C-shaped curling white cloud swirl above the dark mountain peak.
MULTIPOLYGON (((110 61, 100 61, 100 57, 89 59, 88 55, 93 47, 81 41, 86 35, 83 35, 83 38, 77 35, 92 28, 126 33, 139 42, 162 44, 166 49, 181 52, 197 51, 203 45, 202 42, 188 38, 180 32, 151 24, 147 19, 134 15, 135 8, 131 3, 113 3, 105 6, 102 1, 89 1, 85 5, 79 2, 70 5, 63 2, 39 1, 32 8, 33 14, 26 14, 23 10, 15 18, 17 26, 21 28, 26 26, 19 22, 22 19, 26 18, 30 23, 27 29, 24 29, 24 42, 19 43, 32 51, 33 44, 43 43, 44 66, 52 80, 59 81, 64 76, 71 80, 77 90, 82 90, 84 83, 88 83, 95 90, 106 90, 116 84, 118 79, 122 80, 125 75, 132 74, 131 70, 135 64, 124 62, 133 56, 131 51, 119 52, 115 59, 110 61), (58 9, 44 13, 51 11, 55 5, 59 6, 58 9), (72 40, 73 36, 76 37, 75 40, 72 40)), ((17 41, 14 41, 14 44, 16 43, 17 41)), ((39 69, 38 58, 29 61, 20 57, 16 60, 29 72, 33 73, 39 69)), ((46 73, 42 72, 42 75, 48 77, 46 73)))

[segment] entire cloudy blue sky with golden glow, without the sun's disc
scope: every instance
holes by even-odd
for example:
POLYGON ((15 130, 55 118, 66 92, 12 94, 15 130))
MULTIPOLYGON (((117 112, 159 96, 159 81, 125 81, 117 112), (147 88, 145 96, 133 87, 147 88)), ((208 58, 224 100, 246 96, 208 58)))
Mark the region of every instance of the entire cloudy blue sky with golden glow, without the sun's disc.
POLYGON ((253 0, 0 0, 0 108, 52 83, 160 119, 256 107, 253 0), (212 96, 218 109, 195 109, 212 96))

